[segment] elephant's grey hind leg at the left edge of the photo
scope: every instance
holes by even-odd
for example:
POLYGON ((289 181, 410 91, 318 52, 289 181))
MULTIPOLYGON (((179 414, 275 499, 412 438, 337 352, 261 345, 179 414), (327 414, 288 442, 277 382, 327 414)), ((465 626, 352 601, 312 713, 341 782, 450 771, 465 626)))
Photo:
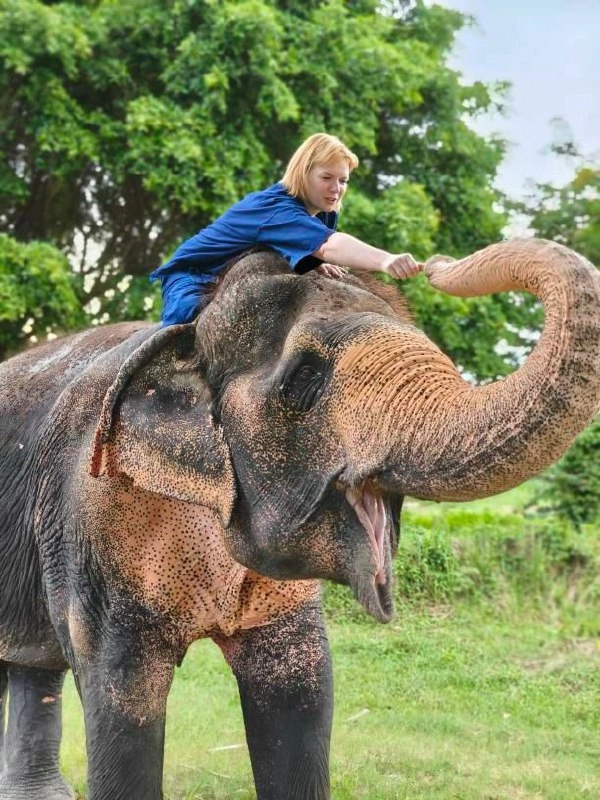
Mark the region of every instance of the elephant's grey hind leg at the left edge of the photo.
POLYGON ((64 672, 8 669, 8 717, 0 800, 67 800, 58 770, 64 672))

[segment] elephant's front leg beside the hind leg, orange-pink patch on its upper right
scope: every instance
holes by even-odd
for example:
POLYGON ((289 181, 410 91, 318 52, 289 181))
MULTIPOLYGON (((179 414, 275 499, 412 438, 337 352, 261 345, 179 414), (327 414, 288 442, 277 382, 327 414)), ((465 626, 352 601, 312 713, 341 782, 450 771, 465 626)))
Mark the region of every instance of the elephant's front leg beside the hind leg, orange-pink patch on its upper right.
POLYGON ((161 800, 165 713, 173 659, 151 633, 107 637, 78 666, 88 800, 161 800), (143 643, 143 644, 142 644, 143 643))

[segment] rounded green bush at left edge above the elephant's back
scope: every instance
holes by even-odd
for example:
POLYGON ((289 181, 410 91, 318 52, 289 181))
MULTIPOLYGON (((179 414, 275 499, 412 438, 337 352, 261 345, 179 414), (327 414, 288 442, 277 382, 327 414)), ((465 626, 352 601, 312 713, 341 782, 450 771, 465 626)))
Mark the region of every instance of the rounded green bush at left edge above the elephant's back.
POLYGON ((83 321, 65 256, 44 242, 22 244, 0 234, 0 358, 31 336, 83 321))

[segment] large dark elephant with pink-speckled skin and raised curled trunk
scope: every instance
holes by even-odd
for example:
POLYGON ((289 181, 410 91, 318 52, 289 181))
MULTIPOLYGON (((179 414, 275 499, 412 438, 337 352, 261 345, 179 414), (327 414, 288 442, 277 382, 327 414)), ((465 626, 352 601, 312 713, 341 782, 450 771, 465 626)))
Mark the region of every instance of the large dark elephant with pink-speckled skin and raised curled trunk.
POLYGON ((123 322, 0 365, 1 800, 65 800, 60 698, 84 711, 89 800, 159 800, 166 700, 195 640, 239 688, 259 800, 324 800, 333 690, 321 582, 393 615, 405 496, 505 491, 566 450, 600 398, 600 279, 515 239, 426 274, 520 290, 543 332, 474 386, 367 274, 245 253, 193 323, 123 322))

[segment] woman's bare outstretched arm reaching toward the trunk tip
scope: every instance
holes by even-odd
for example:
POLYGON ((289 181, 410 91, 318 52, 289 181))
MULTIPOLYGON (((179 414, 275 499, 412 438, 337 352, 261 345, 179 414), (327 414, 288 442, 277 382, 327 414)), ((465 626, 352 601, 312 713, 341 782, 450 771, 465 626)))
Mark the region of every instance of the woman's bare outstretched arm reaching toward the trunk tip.
POLYGON ((332 233, 313 255, 329 264, 367 272, 385 272, 392 278, 409 278, 421 269, 410 253, 388 253, 348 233, 332 233))

